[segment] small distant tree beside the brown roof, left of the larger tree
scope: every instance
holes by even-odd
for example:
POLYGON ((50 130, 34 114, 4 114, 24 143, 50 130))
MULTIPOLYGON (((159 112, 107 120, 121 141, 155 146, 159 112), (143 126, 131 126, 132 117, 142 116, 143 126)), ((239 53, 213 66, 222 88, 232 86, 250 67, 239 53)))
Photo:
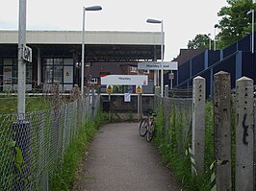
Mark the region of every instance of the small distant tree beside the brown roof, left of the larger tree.
POLYGON ((189 40, 189 49, 206 49, 209 47, 210 37, 207 35, 196 35, 192 40, 189 40))

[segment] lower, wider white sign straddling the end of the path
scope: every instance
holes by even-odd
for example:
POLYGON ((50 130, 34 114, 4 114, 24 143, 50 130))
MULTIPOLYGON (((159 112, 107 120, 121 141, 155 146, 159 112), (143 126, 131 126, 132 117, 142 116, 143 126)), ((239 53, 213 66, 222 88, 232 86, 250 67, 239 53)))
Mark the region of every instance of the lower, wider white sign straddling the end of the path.
POLYGON ((147 85, 147 75, 107 75, 100 78, 101 84, 147 85))

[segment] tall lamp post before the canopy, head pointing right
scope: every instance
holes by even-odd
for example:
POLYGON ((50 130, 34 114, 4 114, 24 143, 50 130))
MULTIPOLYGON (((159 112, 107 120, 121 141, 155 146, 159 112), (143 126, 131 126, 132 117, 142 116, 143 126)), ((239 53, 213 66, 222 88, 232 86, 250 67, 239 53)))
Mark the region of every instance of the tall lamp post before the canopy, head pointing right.
POLYGON ((85 70, 85 17, 86 11, 100 11, 102 10, 101 6, 91 6, 83 7, 83 37, 82 37, 82 71, 81 71, 81 93, 84 95, 84 70, 85 70))

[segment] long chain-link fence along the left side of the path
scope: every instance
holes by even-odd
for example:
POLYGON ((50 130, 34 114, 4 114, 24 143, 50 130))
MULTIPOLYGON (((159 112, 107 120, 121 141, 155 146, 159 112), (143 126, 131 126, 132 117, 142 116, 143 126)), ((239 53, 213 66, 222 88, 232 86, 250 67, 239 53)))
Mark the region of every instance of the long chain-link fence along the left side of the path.
POLYGON ((25 116, 0 115, 0 190, 48 190, 51 172, 99 105, 99 96, 90 96, 25 116))

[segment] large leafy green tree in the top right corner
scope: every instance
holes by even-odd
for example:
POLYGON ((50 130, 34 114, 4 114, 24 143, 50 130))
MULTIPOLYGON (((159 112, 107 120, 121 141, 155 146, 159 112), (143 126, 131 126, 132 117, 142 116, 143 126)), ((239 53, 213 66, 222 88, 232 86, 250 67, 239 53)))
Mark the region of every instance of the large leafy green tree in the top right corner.
POLYGON ((227 3, 229 6, 222 7, 218 12, 218 16, 221 16, 217 36, 219 49, 230 46, 250 33, 251 14, 247 15, 247 12, 256 8, 252 0, 227 0, 227 3))

